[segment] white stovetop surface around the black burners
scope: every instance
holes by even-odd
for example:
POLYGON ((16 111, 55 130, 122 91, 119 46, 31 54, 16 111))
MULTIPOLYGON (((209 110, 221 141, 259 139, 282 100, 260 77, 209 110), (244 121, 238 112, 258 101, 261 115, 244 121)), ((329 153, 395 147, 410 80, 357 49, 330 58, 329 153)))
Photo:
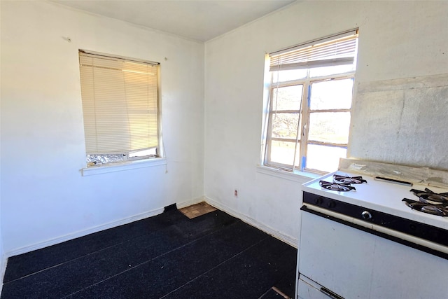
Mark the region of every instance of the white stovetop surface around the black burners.
POLYGON ((346 176, 359 176, 360 174, 350 174, 347 172, 332 172, 331 174, 325 174, 318 179, 309 181, 303 184, 303 190, 309 193, 322 195, 342 202, 348 202, 350 204, 356 204, 360 207, 367 209, 374 209, 382 211, 384 213, 400 216, 410 220, 434 225, 438 228, 444 228, 448 230, 448 217, 442 217, 437 215, 431 215, 423 213, 421 211, 415 211, 402 202, 403 198, 409 198, 411 200, 418 200, 411 189, 425 190, 429 188, 435 193, 448 192, 448 189, 436 188, 432 186, 403 186, 397 183, 389 183, 384 181, 377 181, 373 176, 363 176, 363 179, 367 180, 367 183, 352 184, 351 186, 356 188, 356 191, 351 190, 347 192, 338 192, 332 190, 326 190, 319 186, 319 181, 332 182, 333 174, 341 174, 346 176))

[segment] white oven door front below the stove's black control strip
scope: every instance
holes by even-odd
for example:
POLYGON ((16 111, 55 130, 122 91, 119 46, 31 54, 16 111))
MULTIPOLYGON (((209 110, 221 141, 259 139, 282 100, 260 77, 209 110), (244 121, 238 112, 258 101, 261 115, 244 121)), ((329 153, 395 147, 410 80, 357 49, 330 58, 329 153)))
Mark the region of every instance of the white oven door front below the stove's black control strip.
POLYGON ((447 260, 306 211, 298 252, 300 276, 342 298, 448 294, 447 260))

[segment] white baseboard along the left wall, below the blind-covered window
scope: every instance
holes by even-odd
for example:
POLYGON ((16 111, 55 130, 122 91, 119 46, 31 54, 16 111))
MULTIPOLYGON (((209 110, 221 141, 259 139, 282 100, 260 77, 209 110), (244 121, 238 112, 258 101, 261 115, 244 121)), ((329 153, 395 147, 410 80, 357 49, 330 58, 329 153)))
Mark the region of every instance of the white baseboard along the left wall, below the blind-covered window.
MULTIPOLYGON (((107 230, 109 228, 115 228, 116 226, 119 226, 119 225, 131 223, 131 222, 134 222, 134 221, 139 221, 139 220, 144 219, 144 218, 148 218, 148 217, 151 217, 151 216, 162 214, 163 211, 164 211, 164 208, 154 209, 152 211, 146 211, 146 212, 141 213, 141 214, 137 214, 137 215, 130 216, 130 217, 127 217, 127 218, 122 218, 122 219, 120 219, 118 221, 113 221, 113 222, 109 222, 109 223, 106 223, 106 224, 103 224, 103 225, 98 225, 98 226, 95 226, 93 228, 89 228, 87 230, 80 230, 78 232, 73 232, 71 234, 64 235, 62 237, 57 237, 55 239, 50 239, 50 240, 45 241, 45 242, 40 242, 40 243, 32 244, 30 246, 21 247, 19 249, 14 249, 12 251, 6 252, 4 254, 4 256, 6 256, 6 258, 7 258, 7 257, 10 257, 10 256, 17 256, 18 254, 27 253, 29 251, 42 249, 42 248, 45 248, 45 247, 48 247, 48 246, 52 246, 52 245, 59 244, 59 243, 65 242, 65 241, 69 241, 71 239, 76 239, 78 237, 83 237, 85 235, 90 235, 90 234, 92 234, 94 232, 100 232, 102 230, 107 230)), ((5 267, 6 267, 6 263, 5 263, 5 267)))

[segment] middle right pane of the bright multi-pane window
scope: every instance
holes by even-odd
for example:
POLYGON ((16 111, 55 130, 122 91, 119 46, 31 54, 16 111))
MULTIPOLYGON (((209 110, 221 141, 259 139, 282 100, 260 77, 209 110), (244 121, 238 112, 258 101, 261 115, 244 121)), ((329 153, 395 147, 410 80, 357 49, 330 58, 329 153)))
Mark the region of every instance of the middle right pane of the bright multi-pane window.
POLYGON ((309 140, 347 144, 350 112, 314 112, 309 114, 309 140))

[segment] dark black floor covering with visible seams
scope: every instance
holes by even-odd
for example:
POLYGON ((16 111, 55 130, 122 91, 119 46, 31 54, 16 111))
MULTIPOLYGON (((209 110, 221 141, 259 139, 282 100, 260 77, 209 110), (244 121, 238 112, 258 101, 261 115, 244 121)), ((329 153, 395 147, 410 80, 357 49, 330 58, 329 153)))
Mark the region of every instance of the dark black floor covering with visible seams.
POLYGON ((297 249, 223 211, 176 207, 8 259, 8 298, 293 298, 297 249))

